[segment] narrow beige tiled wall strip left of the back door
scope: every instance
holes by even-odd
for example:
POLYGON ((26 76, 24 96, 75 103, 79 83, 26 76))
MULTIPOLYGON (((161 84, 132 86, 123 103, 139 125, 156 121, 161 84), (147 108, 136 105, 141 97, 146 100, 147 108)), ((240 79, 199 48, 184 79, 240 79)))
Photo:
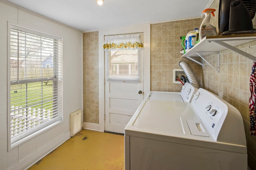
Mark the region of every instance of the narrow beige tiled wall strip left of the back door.
POLYGON ((83 33, 84 122, 99 123, 98 31, 83 33))

